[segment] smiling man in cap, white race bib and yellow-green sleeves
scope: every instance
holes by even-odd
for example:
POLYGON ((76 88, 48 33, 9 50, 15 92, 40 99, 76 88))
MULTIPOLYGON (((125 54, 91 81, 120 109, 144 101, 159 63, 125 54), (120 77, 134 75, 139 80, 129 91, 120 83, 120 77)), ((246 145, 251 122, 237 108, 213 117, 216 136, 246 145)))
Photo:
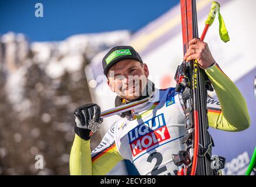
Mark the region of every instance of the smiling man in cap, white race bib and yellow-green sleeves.
MULTIPOLYGON (((216 91, 219 101, 207 99, 209 126, 226 131, 247 129, 250 117, 245 100, 220 70, 207 43, 199 39, 190 41, 184 60, 197 60, 216 91)), ((103 68, 110 89, 117 93, 115 105, 131 102, 135 105, 120 115, 93 151, 90 136, 102 122, 100 107, 88 104, 75 110, 76 135, 70 154, 70 174, 105 175, 119 161, 127 159, 141 175, 175 175, 178 168, 173 164, 172 154, 184 149, 185 135, 180 94, 175 88, 155 88, 148 79, 147 65, 131 46, 112 48, 103 58, 103 68), (146 98, 149 99, 145 102, 146 98)))

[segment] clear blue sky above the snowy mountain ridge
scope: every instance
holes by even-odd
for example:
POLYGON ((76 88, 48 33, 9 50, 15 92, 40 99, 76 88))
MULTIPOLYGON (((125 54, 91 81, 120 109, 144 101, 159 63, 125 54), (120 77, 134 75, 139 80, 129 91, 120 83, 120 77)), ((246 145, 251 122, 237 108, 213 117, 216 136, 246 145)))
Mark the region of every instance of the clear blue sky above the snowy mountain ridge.
POLYGON ((128 29, 132 32, 168 11, 179 0, 1 0, 0 34, 25 33, 32 41, 63 40, 73 34, 128 29), (36 18, 35 4, 43 4, 36 18))

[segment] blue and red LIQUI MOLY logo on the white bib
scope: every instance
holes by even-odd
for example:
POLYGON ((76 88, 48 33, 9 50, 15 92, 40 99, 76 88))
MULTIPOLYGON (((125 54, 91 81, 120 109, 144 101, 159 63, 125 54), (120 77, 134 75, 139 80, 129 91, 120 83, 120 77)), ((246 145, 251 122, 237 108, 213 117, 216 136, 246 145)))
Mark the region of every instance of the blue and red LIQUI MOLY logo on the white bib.
POLYGON ((163 113, 139 124, 128 132, 132 155, 136 156, 144 150, 170 138, 163 113))

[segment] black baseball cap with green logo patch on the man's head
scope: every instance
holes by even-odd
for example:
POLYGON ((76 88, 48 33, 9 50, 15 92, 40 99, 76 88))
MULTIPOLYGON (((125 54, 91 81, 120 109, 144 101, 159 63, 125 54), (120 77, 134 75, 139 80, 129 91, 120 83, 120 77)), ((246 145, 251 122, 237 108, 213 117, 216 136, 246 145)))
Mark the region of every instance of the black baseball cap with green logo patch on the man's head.
POLYGON ((103 70, 107 76, 108 70, 112 65, 118 63, 121 60, 132 59, 143 63, 139 53, 131 46, 115 46, 113 47, 103 58, 103 70))

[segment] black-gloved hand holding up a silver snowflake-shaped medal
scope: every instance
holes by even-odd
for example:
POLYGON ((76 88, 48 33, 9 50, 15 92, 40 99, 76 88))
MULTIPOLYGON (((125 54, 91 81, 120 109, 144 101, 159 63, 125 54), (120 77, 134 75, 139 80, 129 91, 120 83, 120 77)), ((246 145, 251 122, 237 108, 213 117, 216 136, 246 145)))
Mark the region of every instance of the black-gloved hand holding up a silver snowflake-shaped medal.
POLYGON ((90 103, 74 110, 76 126, 74 132, 84 140, 90 140, 95 131, 100 130, 103 120, 100 118, 100 106, 90 103))

